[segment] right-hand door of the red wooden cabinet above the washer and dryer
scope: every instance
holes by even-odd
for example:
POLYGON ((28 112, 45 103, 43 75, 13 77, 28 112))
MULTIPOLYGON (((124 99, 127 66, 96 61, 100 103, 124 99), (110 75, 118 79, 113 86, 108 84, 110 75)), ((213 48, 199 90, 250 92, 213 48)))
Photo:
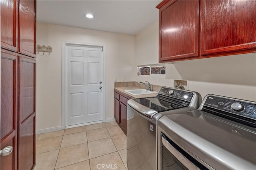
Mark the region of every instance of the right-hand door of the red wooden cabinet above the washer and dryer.
POLYGON ((255 51, 255 0, 205 0, 200 9, 202 55, 255 51))

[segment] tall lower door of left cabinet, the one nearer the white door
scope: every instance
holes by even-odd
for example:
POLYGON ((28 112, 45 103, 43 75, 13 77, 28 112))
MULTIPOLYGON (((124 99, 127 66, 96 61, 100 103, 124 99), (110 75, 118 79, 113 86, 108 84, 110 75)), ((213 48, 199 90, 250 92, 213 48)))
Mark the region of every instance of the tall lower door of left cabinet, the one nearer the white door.
POLYGON ((36 61, 19 57, 18 169, 33 169, 36 162, 36 61))

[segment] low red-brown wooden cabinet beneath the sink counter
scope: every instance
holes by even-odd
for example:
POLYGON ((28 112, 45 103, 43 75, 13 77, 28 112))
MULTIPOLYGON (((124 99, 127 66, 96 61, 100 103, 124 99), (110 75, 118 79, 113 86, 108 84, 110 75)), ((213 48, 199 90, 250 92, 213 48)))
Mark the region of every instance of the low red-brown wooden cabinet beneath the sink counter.
POLYGON ((126 104, 129 96, 115 90, 115 119, 126 134, 126 104))

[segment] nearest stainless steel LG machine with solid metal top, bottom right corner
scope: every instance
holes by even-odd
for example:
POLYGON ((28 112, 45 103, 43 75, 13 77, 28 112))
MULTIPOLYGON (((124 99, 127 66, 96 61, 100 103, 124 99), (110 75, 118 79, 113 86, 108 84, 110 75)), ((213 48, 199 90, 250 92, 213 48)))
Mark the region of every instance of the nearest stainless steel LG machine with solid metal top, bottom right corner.
POLYGON ((158 169, 256 169, 256 102, 208 95, 158 121, 158 169))

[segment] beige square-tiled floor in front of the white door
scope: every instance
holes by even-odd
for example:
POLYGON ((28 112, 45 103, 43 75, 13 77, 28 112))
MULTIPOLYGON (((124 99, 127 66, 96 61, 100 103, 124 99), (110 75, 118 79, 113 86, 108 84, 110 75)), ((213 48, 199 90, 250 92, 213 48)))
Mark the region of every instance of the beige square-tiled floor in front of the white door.
POLYGON ((126 170, 126 135, 115 121, 36 135, 34 170, 126 170))

